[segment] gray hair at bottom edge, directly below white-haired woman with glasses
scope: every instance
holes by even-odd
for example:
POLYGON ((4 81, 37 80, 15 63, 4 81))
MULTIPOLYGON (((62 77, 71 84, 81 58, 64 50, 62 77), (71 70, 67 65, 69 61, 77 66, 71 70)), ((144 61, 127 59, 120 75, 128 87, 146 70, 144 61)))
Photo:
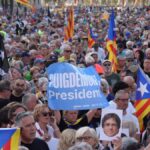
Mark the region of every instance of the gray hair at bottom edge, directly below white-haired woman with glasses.
POLYGON ((70 147, 68 150, 92 150, 92 147, 86 142, 81 142, 81 143, 76 143, 74 146, 70 147))

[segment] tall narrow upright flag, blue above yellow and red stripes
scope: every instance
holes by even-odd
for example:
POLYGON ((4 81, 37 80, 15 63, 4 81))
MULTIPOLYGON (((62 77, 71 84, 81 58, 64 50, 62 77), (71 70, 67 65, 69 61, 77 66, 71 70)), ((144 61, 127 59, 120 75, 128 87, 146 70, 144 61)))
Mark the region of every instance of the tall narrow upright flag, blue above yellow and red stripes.
POLYGON ((117 44, 116 44, 116 33, 115 29, 115 15, 114 11, 112 11, 109 20, 109 29, 108 29, 108 38, 106 47, 109 52, 109 60, 112 62, 112 70, 114 72, 117 71, 117 44))

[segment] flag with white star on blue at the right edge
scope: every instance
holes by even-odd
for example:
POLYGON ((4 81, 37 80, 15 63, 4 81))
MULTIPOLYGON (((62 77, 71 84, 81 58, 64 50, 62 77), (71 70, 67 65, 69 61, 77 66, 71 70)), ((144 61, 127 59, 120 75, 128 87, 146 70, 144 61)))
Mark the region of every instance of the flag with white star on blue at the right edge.
POLYGON ((137 89, 136 89, 135 108, 140 124, 140 130, 144 130, 143 118, 150 113, 150 79, 139 67, 137 71, 137 89))

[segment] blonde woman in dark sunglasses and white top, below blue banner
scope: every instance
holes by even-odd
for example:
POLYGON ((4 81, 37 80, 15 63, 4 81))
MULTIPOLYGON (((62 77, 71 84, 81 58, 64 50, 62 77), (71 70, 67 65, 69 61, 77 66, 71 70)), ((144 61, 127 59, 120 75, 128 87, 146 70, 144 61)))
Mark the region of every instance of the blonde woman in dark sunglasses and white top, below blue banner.
POLYGON ((52 111, 49 110, 46 104, 36 105, 33 115, 36 121, 36 137, 46 142, 49 142, 51 137, 59 138, 59 128, 56 125, 55 118, 52 116, 52 111))

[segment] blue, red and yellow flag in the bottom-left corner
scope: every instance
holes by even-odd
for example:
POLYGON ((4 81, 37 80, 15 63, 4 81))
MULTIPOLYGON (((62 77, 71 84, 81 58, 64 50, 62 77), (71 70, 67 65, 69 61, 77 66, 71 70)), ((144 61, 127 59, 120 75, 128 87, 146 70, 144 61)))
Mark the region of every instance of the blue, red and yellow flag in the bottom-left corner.
POLYGON ((20 129, 0 128, 0 150, 18 150, 20 129))

